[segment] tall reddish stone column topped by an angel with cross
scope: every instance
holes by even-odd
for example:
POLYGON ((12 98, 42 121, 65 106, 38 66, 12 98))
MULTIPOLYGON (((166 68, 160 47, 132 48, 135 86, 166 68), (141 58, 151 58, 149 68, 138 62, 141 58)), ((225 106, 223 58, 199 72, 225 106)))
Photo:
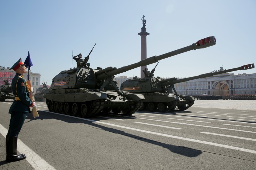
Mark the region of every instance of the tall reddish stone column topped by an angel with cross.
MULTIPOLYGON (((138 33, 141 37, 140 39, 140 60, 144 60, 147 58, 147 35, 149 35, 149 33, 146 32, 146 20, 144 19, 144 15, 143 15, 143 19, 141 18, 143 27, 141 28, 141 32, 138 33)), ((145 74, 142 70, 144 70, 147 66, 141 66, 140 67, 140 78, 144 78, 145 74)))

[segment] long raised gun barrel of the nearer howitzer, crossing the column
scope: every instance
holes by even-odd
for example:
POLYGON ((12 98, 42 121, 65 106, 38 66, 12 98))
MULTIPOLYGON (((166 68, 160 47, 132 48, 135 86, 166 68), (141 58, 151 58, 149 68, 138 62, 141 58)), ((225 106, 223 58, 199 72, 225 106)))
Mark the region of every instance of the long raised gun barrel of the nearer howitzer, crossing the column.
POLYGON ((201 40, 197 41, 196 43, 193 43, 192 45, 189 45, 187 47, 180 48, 180 49, 177 49, 175 51, 162 54, 160 56, 152 56, 152 57, 149 57, 147 59, 141 60, 138 63, 134 63, 134 64, 131 64, 131 65, 128 65, 128 66, 124 66, 124 67, 121 67, 121 68, 118 68, 118 69, 114 69, 114 70, 108 71, 108 72, 103 73, 103 74, 99 74, 99 75, 96 76, 96 78, 98 80, 104 79, 106 75, 110 77, 110 76, 113 76, 113 75, 117 75, 117 74, 126 72, 128 70, 132 70, 134 68, 138 68, 138 67, 145 66, 145 65, 148 65, 148 64, 156 63, 156 62, 158 62, 158 60, 162 60, 162 59, 165 59, 165 58, 168 58, 168 57, 171 57, 171 56, 175 56, 175 55, 181 54, 183 52, 188 52, 188 51, 191 51, 191 50, 196 50, 196 49, 201 49, 201 48, 207 48, 207 47, 213 46, 215 44, 216 44, 216 38, 214 36, 207 37, 207 38, 201 39, 201 40))

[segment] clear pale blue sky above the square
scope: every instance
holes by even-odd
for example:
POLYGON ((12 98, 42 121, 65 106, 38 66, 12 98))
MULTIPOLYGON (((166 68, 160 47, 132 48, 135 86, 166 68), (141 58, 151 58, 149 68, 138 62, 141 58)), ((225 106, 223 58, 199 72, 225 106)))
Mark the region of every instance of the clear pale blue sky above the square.
MULTIPOLYGON (((171 52, 209 36, 216 45, 161 60, 160 77, 191 77, 255 63, 255 0, 10 0, 0 1, 0 66, 12 67, 28 51, 31 72, 51 84, 55 75, 76 67, 72 56, 91 68, 121 68, 140 61, 142 17, 147 57, 171 52)), ((255 63, 256 64, 256 63, 255 63)), ((156 63, 148 65, 152 70, 156 63)), ((256 73, 256 69, 234 71, 256 73)), ((140 68, 116 77, 140 76, 140 68)))

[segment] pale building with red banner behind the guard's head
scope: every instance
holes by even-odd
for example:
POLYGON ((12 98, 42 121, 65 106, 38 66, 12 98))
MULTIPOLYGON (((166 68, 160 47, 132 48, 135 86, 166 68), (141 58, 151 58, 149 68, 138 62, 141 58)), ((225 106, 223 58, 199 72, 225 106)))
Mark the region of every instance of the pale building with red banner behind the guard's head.
MULTIPOLYGON (((8 83, 11 84, 12 79, 14 78, 16 72, 14 70, 10 70, 9 67, 1 67, 0 69, 0 86, 4 85, 3 80, 8 80, 8 83)), ((25 79, 27 80, 28 73, 23 74, 25 79)), ((31 81, 31 87, 34 88, 34 91, 36 91, 40 87, 40 77, 41 74, 39 73, 33 73, 30 72, 30 81, 31 81)))

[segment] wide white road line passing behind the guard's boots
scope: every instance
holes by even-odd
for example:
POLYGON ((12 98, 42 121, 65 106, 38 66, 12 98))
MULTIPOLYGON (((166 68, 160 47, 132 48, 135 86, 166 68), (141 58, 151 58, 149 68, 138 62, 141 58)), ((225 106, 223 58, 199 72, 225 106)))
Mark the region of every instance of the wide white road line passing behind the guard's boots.
MULTIPOLYGON (((0 133, 6 137, 8 130, 0 124, 0 133)), ((43 158, 41 158, 38 154, 36 154, 32 149, 30 149, 27 145, 25 145, 21 140, 18 139, 18 149, 20 153, 26 154, 26 161, 34 168, 34 169, 55 169, 48 162, 46 162, 43 158)))

